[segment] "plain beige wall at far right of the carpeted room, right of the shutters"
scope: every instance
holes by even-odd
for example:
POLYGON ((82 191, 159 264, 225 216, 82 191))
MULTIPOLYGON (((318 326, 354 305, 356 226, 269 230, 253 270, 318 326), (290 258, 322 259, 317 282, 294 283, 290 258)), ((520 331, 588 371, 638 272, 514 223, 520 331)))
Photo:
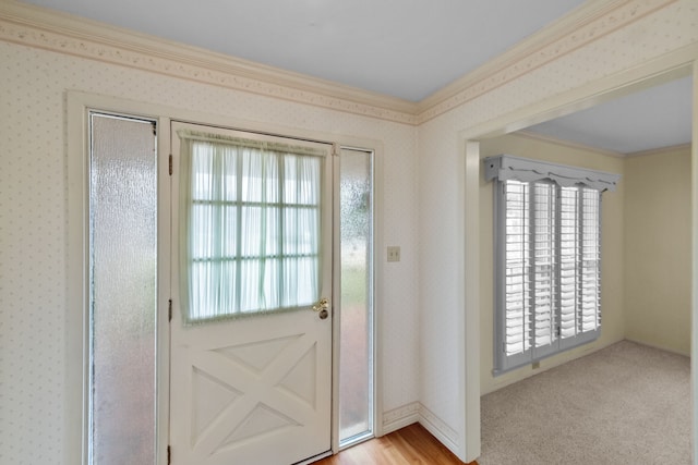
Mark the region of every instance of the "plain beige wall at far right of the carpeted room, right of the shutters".
POLYGON ((690 354, 690 147, 625 162, 626 338, 690 354))

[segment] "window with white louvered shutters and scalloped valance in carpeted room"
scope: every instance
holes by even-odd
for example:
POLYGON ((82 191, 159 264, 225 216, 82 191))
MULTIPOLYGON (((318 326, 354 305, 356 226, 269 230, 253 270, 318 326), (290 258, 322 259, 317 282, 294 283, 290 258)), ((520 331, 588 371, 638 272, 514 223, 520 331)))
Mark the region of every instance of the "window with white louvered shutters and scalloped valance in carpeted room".
POLYGON ((601 193, 618 175, 502 155, 495 180, 495 375, 597 339, 601 193))

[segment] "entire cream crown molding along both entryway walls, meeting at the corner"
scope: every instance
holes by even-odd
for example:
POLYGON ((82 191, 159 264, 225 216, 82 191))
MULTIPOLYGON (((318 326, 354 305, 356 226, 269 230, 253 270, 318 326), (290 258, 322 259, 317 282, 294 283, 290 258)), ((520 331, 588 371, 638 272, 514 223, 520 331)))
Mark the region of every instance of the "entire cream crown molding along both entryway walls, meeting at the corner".
POLYGON ((0 0, 0 40, 270 98, 419 125, 676 1, 590 0, 418 103, 16 0, 0 0))

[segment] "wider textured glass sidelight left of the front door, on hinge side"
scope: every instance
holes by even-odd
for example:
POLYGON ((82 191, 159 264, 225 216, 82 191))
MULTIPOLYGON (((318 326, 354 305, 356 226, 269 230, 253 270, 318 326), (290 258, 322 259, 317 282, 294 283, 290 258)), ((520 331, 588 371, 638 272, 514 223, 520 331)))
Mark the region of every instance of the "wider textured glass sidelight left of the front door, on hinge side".
POLYGON ((91 441, 155 463, 156 147, 149 121, 92 115, 91 441))

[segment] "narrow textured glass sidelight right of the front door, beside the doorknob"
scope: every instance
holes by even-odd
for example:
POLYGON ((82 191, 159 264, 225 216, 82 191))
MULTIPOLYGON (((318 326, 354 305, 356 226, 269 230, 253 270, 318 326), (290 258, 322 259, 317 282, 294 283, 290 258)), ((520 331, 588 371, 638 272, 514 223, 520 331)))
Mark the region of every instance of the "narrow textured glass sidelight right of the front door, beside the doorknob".
POLYGON ((372 425, 372 154, 341 150, 340 445, 371 435, 372 425))

